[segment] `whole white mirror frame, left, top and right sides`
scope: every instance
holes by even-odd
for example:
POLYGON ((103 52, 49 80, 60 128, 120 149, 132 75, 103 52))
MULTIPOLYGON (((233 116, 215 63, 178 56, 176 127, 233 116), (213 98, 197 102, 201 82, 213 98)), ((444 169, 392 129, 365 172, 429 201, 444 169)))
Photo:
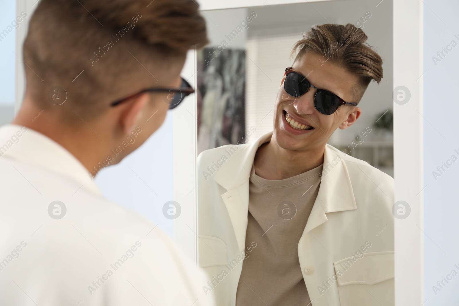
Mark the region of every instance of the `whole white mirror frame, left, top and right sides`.
MULTIPOLYGON (((336 0, 337 1, 337 0, 336 0)), ((238 7, 318 2, 305 0, 200 0, 205 11, 238 7)), ((376 4, 375 4, 376 5, 376 4)), ((191 54, 190 54, 191 55, 191 54)), ((196 56, 188 58, 196 67, 196 56)), ((190 65, 191 66, 191 65, 190 65)), ((189 71, 191 72, 191 71, 189 71)), ((196 72, 193 71, 193 72, 196 72)), ((191 72, 192 73, 192 72, 191 72)), ((410 217, 395 220, 395 300, 397 306, 423 305, 424 300, 424 228, 423 204, 423 4, 417 0, 393 0, 393 87, 403 85, 411 90, 410 103, 393 103, 394 111, 394 200, 411 205, 410 217), (406 56, 409 54, 410 56, 406 56), (406 140, 410 135, 410 141, 406 140), (419 226, 419 228, 418 228, 419 226)), ((196 74, 194 75, 196 83, 196 74)), ((196 99, 196 97, 195 97, 196 99)), ((193 208, 175 223, 176 239, 196 261, 196 100, 194 106, 177 108, 174 122, 194 124, 192 129, 174 129, 174 197, 183 206, 193 208), (189 113, 190 112, 190 113, 189 113), (190 116, 192 115, 192 116, 190 116), (192 123, 192 120, 194 122, 192 123), (184 134, 185 132, 185 134, 184 134), (175 153, 177 152, 177 153, 175 153), (187 154, 184 158, 184 153, 187 154), (184 188, 186 186, 186 188, 184 188), (186 197, 186 190, 195 188, 186 197), (185 197, 184 197, 185 195, 185 197), (190 228, 193 225, 191 232, 190 228), (191 239, 193 243, 191 244, 191 239)))

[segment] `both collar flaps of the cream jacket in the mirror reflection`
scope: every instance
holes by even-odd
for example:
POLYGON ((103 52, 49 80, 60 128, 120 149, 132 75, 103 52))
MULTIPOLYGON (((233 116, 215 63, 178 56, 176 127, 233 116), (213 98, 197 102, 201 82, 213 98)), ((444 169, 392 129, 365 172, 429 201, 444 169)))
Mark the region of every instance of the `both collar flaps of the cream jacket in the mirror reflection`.
MULTIPOLYGON (((246 183, 258 147, 269 141, 272 134, 271 131, 252 143, 233 146, 235 152, 220 167, 213 179, 226 190, 235 189, 246 183)), ((306 229, 315 228, 325 222, 325 213, 357 209, 351 179, 344 161, 345 156, 346 154, 333 146, 325 145, 319 194, 306 229)))

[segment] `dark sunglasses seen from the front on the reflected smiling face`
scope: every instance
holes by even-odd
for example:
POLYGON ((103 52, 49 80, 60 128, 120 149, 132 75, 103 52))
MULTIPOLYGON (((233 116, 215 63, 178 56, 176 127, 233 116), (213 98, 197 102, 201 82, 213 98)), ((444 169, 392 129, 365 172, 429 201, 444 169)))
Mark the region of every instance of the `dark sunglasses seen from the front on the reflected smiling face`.
POLYGON ((314 107, 324 115, 333 114, 341 105, 357 105, 357 103, 342 100, 330 91, 318 89, 313 84, 309 83, 306 77, 302 76, 300 73, 290 68, 285 68, 284 89, 287 94, 292 97, 299 97, 306 94, 310 87, 317 90, 314 95, 314 107))

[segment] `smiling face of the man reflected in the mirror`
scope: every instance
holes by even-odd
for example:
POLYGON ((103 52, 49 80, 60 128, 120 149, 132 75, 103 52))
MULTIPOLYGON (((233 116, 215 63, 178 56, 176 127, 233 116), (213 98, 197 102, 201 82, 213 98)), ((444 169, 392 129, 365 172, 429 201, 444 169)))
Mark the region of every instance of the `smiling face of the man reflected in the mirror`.
MULTIPOLYGON (((355 102, 351 90, 358 83, 358 77, 344 68, 325 61, 326 58, 306 53, 298 58, 292 70, 307 77, 319 89, 328 90, 347 102, 355 102)), ((284 78, 274 105, 273 139, 285 150, 322 150, 336 128, 347 128, 360 115, 360 108, 344 105, 331 115, 324 115, 314 107, 316 89, 309 88, 300 97, 288 95, 284 90, 284 78), (285 116, 312 127, 310 130, 297 130, 290 126, 285 116)))

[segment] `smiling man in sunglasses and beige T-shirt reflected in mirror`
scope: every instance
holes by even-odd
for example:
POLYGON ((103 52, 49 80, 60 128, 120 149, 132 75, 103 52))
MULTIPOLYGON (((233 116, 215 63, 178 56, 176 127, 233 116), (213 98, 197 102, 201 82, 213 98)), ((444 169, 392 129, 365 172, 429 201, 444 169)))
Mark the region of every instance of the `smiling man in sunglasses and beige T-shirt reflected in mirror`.
POLYGON ((313 26, 274 131, 198 156, 199 264, 219 305, 394 305, 393 179, 327 145, 382 78, 366 40, 352 24, 313 26))

